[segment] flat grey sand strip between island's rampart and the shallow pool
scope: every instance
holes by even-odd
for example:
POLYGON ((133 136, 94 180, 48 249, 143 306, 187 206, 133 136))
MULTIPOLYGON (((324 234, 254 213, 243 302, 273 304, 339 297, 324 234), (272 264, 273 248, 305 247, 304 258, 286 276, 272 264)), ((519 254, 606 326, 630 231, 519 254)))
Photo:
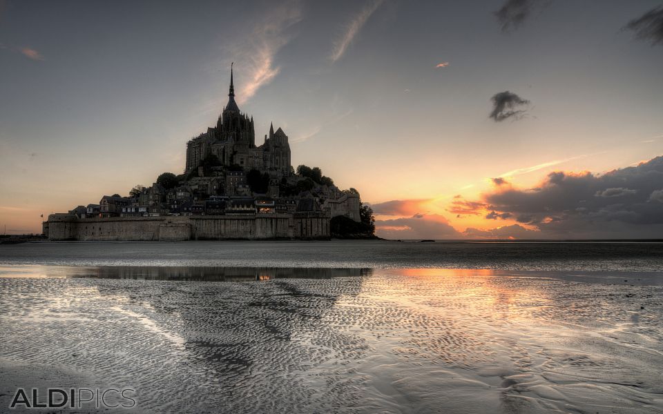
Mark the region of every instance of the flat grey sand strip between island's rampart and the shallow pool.
POLYGON ((44 242, 0 246, 0 264, 663 272, 663 242, 44 242))

